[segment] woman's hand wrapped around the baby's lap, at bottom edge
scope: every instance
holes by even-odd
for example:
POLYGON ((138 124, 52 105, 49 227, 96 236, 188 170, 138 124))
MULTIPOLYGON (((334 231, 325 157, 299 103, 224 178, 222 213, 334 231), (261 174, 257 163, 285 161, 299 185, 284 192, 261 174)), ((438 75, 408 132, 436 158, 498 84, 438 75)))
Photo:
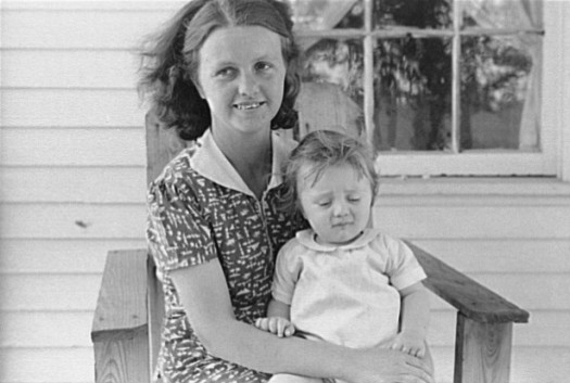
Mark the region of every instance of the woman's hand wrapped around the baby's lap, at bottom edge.
POLYGON ((346 379, 353 383, 433 383, 431 355, 426 358, 389 349, 363 349, 346 379))

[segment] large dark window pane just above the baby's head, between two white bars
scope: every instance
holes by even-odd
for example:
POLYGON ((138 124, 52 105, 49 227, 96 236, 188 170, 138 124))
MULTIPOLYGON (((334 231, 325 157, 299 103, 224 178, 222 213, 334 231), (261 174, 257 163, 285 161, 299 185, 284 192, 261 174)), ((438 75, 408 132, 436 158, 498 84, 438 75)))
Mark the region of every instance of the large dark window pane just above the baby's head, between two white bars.
POLYGON ((451 140, 451 40, 382 39, 375 49, 373 146, 444 150, 451 140))

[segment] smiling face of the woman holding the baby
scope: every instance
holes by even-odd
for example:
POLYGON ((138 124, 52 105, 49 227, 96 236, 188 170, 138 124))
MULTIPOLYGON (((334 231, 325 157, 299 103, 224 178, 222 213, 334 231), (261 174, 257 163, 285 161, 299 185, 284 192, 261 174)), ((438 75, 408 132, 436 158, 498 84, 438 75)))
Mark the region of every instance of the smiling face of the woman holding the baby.
POLYGON ((197 88, 212 114, 212 129, 269 131, 283 99, 281 39, 259 26, 214 30, 200 49, 197 88))

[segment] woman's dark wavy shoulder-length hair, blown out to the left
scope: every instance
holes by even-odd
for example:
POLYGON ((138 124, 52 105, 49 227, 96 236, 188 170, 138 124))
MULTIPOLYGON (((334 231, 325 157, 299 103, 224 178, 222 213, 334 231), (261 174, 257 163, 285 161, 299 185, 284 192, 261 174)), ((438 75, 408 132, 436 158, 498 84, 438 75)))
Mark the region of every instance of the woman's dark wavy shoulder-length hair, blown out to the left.
POLYGON ((281 37, 287 73, 271 129, 292 128, 297 122, 293 105, 300 89, 299 50, 289 7, 277 0, 191 0, 143 43, 138 84, 139 92, 150 95, 159 119, 185 140, 201 137, 211 125, 207 102, 194 86, 200 49, 215 29, 237 26, 262 26, 281 37))

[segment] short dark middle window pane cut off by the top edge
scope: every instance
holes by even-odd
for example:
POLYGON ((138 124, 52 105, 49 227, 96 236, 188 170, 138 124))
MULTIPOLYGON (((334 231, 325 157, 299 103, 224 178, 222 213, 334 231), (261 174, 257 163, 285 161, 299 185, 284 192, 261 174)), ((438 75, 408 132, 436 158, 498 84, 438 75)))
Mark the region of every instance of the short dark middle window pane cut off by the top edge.
POLYGON ((373 27, 408 26, 443 29, 452 26, 451 0, 373 0, 373 27))

